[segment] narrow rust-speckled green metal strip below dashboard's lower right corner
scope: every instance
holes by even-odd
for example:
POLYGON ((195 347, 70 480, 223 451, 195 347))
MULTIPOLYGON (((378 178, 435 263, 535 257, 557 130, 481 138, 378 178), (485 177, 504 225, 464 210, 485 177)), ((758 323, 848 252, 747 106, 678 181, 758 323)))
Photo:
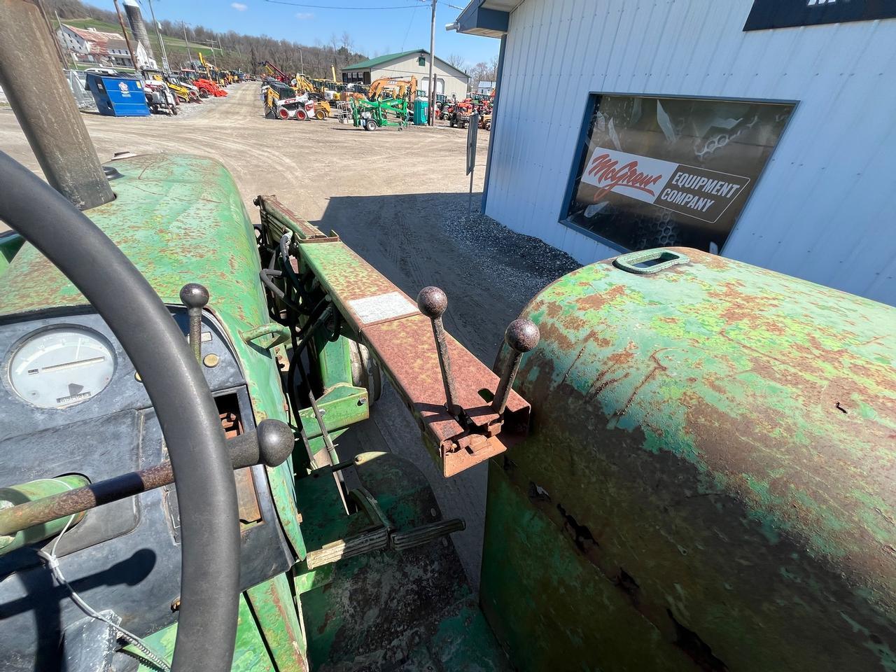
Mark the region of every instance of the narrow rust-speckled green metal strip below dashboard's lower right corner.
POLYGON ((246 597, 278 672, 306 672, 305 635, 298 622, 289 577, 279 574, 246 590, 246 597))

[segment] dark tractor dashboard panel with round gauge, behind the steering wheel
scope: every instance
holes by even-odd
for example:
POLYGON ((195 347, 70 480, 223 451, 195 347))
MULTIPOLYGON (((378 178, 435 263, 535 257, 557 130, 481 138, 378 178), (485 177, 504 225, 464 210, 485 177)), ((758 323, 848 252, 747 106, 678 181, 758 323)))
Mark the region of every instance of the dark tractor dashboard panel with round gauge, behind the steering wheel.
MULTIPOLYGON (((187 334, 183 306, 171 306, 187 334)), ((88 307, 0 322, 0 454, 4 483, 76 474, 90 483, 152 467, 167 449, 149 396, 102 318, 88 307)), ((228 437, 254 429, 249 392, 220 323, 202 315, 202 372, 228 437)), ((292 564, 263 465, 237 470, 241 588, 292 564)), ((138 635, 177 621, 180 525, 174 486, 88 511, 61 537, 0 556, 0 650, 19 669, 59 668, 85 618, 37 555, 56 542, 65 578, 91 607, 112 609, 138 635), (57 642, 64 642, 58 650, 57 642)), ((214 568, 209 567, 213 573, 214 568)), ((121 654, 116 654, 121 655, 121 654)))

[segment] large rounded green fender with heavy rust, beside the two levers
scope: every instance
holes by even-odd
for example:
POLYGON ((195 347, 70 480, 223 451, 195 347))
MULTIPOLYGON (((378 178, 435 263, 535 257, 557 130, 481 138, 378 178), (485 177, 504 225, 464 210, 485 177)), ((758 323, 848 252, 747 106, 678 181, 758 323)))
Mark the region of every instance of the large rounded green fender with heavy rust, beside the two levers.
POLYGON ((523 311, 533 433, 488 485, 499 640, 521 670, 896 670, 896 310, 674 251, 523 311))

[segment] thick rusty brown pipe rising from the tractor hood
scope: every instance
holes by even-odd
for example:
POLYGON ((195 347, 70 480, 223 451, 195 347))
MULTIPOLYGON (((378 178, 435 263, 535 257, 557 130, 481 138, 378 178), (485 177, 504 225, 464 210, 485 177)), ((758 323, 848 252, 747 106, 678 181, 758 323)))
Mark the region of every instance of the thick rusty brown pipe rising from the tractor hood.
POLYGON ((79 210, 115 198, 37 6, 0 0, 0 86, 47 182, 79 210))

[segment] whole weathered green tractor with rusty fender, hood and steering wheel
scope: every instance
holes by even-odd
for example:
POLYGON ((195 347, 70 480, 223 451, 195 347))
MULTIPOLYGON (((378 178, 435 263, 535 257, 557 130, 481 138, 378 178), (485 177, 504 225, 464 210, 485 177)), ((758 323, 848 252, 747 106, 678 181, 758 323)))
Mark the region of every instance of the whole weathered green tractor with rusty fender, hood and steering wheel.
POLYGON ((100 166, 52 58, 0 2, 49 181, 0 152, 0 668, 896 669, 891 307, 623 254, 489 367, 217 161, 100 166), (340 456, 383 378, 445 478, 487 463, 478 595, 418 467, 340 456))

